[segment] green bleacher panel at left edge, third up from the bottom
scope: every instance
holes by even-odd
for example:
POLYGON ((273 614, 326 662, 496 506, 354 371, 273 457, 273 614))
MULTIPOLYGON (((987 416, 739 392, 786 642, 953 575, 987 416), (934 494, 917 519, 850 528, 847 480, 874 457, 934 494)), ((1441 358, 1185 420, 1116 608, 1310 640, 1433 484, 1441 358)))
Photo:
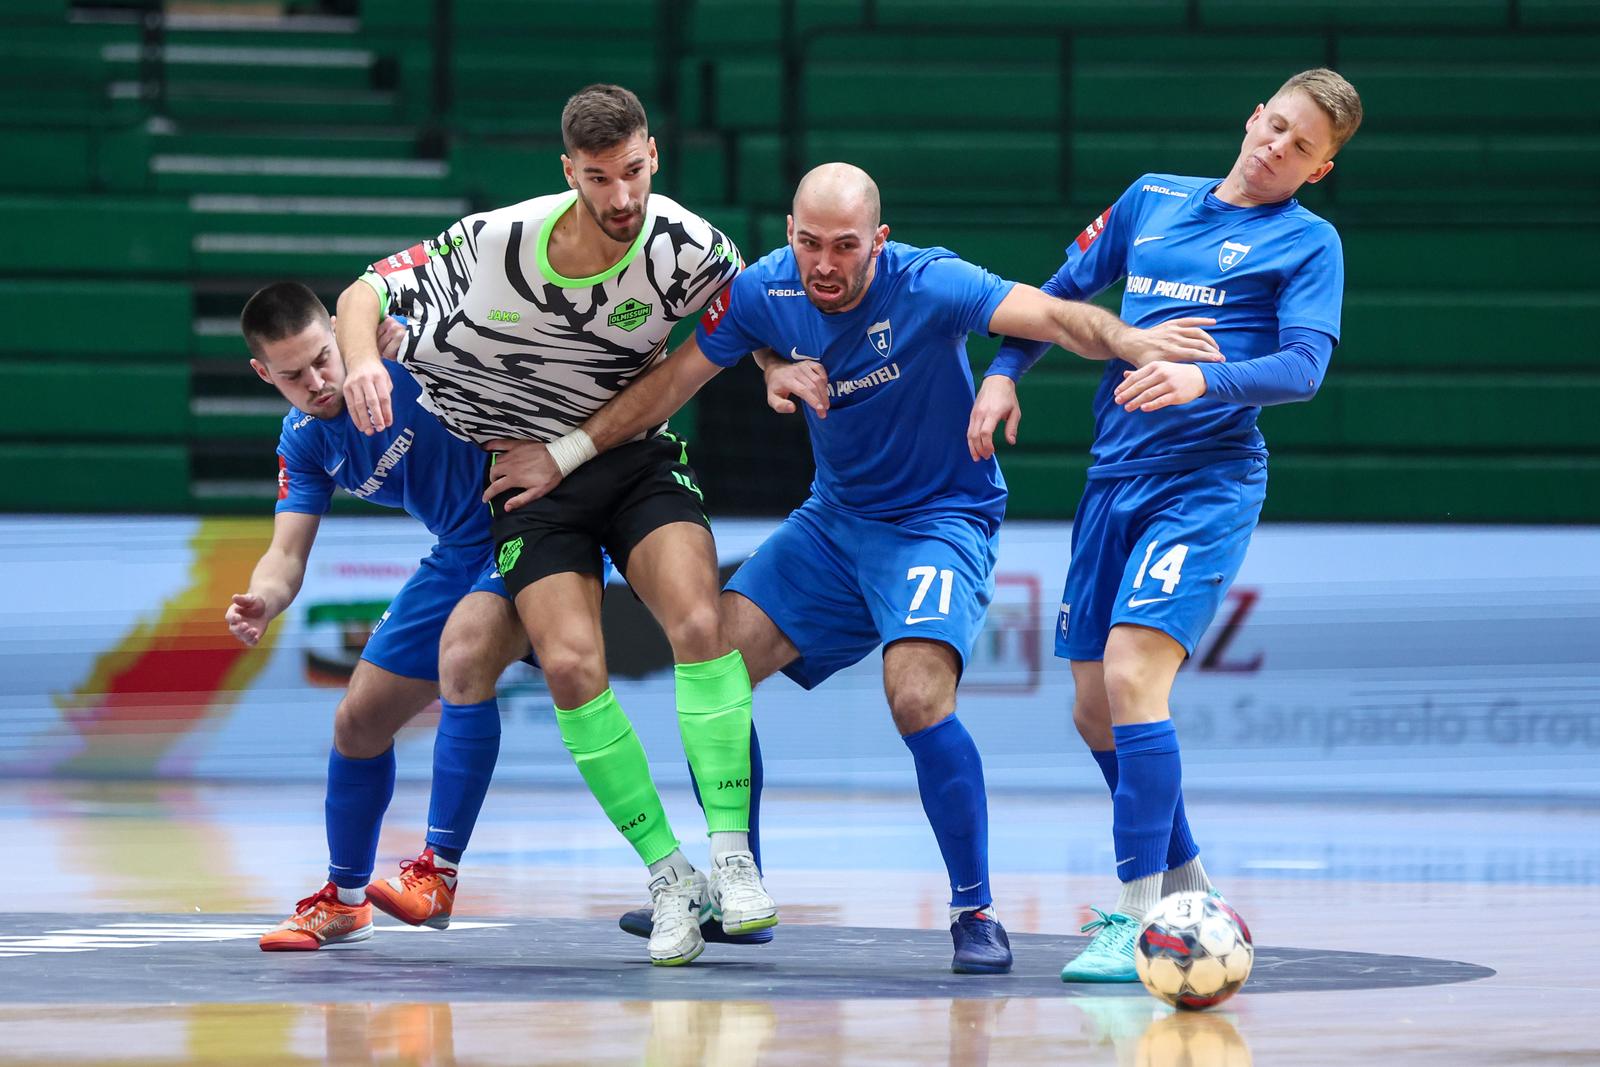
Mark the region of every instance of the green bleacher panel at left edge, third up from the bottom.
POLYGON ((189 352, 192 315, 190 291, 181 282, 0 278, 6 357, 182 360, 189 352))

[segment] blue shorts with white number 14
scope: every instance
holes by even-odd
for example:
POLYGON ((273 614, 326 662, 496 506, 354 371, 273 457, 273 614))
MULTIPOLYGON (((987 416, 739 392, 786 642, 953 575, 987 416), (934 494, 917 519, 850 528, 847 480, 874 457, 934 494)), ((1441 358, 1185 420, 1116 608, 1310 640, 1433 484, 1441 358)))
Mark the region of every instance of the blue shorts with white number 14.
POLYGON ((1104 659, 1118 622, 1160 630, 1194 656, 1266 498, 1264 459, 1090 478, 1072 525, 1056 656, 1104 659))

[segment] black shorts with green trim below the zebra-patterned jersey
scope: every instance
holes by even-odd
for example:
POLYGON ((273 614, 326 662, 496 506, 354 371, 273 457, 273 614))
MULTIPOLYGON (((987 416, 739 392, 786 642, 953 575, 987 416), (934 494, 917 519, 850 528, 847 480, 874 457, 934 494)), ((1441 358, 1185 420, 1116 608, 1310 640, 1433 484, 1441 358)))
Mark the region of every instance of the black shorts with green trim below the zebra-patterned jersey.
POLYGON ((670 523, 709 530, 688 459, 688 445, 664 430, 595 456, 514 512, 504 502, 520 490, 494 498, 490 534, 506 590, 515 600, 541 577, 568 571, 603 579, 602 550, 627 577, 629 555, 656 530, 670 523))

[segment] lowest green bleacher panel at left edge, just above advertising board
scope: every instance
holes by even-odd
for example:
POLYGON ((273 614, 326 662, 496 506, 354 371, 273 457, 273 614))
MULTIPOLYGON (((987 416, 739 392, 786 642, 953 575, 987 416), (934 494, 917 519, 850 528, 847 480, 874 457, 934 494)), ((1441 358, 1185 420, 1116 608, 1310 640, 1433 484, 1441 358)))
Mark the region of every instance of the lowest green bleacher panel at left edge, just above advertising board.
POLYGON ((184 445, 0 443, 0 510, 187 510, 184 445), (93 477, 83 477, 93 472, 93 477))

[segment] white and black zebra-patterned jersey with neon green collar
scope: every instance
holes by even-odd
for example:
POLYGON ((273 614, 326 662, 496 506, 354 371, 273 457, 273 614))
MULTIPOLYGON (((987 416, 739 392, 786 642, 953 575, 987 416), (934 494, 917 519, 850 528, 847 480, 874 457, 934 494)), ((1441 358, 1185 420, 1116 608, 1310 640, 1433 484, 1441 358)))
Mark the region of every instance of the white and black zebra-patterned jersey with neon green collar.
POLYGON ((587 278, 562 277, 550 230, 576 192, 472 214, 363 275, 386 314, 413 320, 400 363, 422 406, 458 437, 550 442, 662 357, 672 326, 739 272, 710 222, 651 194, 627 254, 587 278))

